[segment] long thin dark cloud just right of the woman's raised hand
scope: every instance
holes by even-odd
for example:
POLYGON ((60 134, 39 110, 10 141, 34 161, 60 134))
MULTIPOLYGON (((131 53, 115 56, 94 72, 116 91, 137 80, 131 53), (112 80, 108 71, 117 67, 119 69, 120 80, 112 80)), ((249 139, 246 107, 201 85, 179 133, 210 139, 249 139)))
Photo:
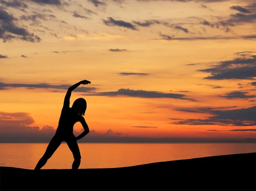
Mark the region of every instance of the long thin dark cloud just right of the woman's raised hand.
POLYGON ((170 94, 159 91, 145 91, 145 90, 131 90, 131 89, 119 89, 118 91, 108 92, 95 92, 93 94, 86 94, 92 96, 128 96, 128 97, 143 97, 143 98, 174 98, 180 100, 195 101, 191 98, 186 98, 184 94, 170 94))

